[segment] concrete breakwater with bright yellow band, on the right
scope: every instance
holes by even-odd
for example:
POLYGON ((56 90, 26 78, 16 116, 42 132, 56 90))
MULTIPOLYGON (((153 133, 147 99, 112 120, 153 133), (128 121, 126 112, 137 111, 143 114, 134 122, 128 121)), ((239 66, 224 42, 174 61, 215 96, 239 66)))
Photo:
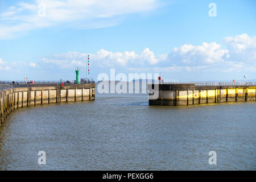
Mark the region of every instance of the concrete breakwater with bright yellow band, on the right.
POLYGON ((196 86, 195 84, 148 84, 149 105, 195 105, 255 101, 256 85, 196 86))

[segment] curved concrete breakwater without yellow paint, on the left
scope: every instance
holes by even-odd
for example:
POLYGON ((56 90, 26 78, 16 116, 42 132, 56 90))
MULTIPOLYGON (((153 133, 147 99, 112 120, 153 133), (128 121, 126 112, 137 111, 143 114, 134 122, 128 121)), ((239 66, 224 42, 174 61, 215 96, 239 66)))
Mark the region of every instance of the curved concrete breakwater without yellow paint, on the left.
POLYGON ((95 100, 94 83, 6 89, 0 92, 0 126, 9 114, 19 107, 86 100, 95 100))

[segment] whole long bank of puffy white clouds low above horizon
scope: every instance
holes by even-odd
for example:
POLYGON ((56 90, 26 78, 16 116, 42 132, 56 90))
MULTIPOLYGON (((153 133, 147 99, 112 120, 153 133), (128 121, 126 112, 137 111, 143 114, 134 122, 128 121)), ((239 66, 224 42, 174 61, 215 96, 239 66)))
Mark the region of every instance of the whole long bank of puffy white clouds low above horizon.
MULTIPOLYGON (((137 72, 256 72, 256 39, 246 34, 224 39, 227 48, 223 49, 217 43, 203 43, 200 46, 184 44, 176 47, 168 55, 155 55, 149 48, 141 52, 112 52, 100 49, 89 53, 90 65, 94 72, 119 68, 123 71, 137 72), (242 46, 241 46, 242 45, 242 46)), ((48 72, 63 72, 76 67, 86 68, 88 53, 68 52, 58 55, 44 56, 39 61, 29 65, 35 69, 48 72)), ((22 71, 23 63, 3 61, 0 59, 0 70, 12 68, 22 71)))

